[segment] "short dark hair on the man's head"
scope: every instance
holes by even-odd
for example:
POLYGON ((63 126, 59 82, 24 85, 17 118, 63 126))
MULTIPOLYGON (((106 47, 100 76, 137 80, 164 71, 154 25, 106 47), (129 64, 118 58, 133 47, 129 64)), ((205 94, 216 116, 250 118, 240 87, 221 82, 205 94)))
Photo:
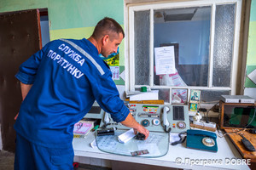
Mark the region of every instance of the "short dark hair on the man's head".
POLYGON ((123 37, 125 37, 125 32, 119 23, 112 18, 105 17, 97 23, 92 33, 92 37, 99 39, 105 35, 109 35, 110 38, 112 38, 112 36, 114 36, 113 33, 122 33, 123 37))

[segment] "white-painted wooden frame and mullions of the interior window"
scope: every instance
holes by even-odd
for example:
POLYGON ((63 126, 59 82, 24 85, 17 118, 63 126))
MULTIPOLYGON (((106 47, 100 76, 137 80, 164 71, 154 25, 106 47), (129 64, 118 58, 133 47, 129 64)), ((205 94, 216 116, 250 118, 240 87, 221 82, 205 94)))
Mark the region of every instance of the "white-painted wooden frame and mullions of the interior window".
MULTIPOLYGON (((133 91, 135 88, 140 88, 142 85, 135 85, 135 65, 134 65, 134 12, 135 11, 150 11, 150 52, 149 52, 149 86, 148 88, 169 88, 170 90, 170 103, 172 103, 172 88, 188 88, 188 94, 192 89, 200 90, 229 90, 230 94, 236 94, 236 82, 238 74, 238 55, 239 55, 239 42, 240 42, 240 27, 241 27, 241 3, 242 0, 210 0, 210 1, 186 1, 186 2, 173 2, 173 3, 143 3, 143 4, 127 4, 125 8, 125 32, 128 32, 125 40, 125 90, 133 91), (215 12, 217 5, 234 4, 235 3, 235 30, 234 30, 234 43, 233 43, 233 56, 231 64, 230 75, 230 87, 212 87, 212 71, 213 71, 213 45, 214 45, 214 31, 215 31, 215 12), (207 87, 200 86, 187 86, 187 87, 175 87, 175 86, 162 86, 154 85, 154 10, 163 8, 189 8, 198 6, 210 6, 212 7, 211 15, 211 29, 210 29, 210 42, 209 42, 209 68, 208 68, 208 83, 207 87), (133 29, 132 29, 133 28, 133 29)), ((144 85, 143 85, 144 86, 144 85)))

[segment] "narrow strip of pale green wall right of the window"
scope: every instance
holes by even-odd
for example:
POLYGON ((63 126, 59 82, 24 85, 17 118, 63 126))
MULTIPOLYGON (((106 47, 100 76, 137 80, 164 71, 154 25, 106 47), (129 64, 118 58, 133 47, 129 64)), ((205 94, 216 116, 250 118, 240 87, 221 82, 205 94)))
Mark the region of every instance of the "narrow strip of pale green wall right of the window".
MULTIPOLYGON (((246 66, 246 76, 248 76, 252 71, 256 70, 256 0, 252 0, 251 3, 251 13, 250 13, 250 23, 249 23, 249 36, 247 43, 247 66, 246 66)), ((256 79, 256 77, 255 77, 256 79)), ((244 94, 256 99, 256 80, 255 83, 246 77, 244 85, 244 94)))

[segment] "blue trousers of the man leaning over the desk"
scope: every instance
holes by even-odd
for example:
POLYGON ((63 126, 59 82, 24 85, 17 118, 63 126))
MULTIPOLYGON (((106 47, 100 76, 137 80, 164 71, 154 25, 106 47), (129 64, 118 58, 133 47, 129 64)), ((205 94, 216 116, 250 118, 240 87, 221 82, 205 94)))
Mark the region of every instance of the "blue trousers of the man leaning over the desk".
POLYGON ((15 170, 73 169, 73 147, 52 149, 24 139, 16 133, 15 170))

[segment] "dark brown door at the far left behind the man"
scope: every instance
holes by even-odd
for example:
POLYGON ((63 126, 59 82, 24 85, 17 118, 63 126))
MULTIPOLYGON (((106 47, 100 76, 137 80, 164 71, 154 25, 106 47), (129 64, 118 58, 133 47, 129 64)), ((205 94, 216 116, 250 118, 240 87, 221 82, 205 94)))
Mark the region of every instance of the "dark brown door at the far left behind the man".
POLYGON ((3 150, 15 151, 15 115, 21 103, 15 78, 22 62, 41 45, 39 10, 0 14, 0 126, 3 150))

